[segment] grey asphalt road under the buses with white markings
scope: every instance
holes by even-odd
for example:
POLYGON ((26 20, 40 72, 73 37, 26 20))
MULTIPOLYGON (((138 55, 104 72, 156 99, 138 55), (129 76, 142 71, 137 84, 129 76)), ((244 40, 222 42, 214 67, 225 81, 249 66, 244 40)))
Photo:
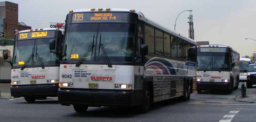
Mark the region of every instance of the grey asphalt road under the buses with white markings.
MULTIPOLYGON (((247 89, 255 94, 255 89, 247 89)), ((255 122, 256 104, 237 102, 240 88, 225 91, 193 93, 186 102, 168 100, 155 103, 140 114, 138 108, 89 107, 76 113, 72 106, 61 106, 56 99, 39 100, 34 104, 24 99, 0 98, 0 122, 255 122)))

